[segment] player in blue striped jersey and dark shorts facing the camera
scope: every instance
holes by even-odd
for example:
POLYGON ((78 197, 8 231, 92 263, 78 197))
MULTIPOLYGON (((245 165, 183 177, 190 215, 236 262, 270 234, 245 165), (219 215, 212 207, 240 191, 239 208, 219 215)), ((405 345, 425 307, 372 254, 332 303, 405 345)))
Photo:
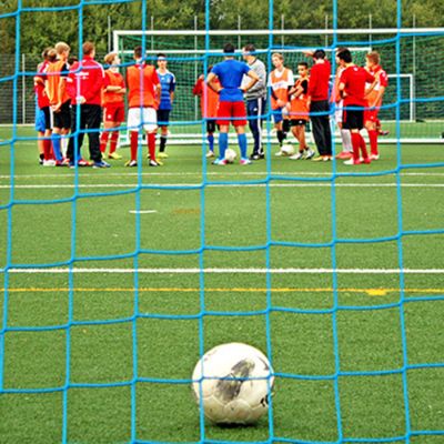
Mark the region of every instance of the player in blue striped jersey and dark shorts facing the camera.
POLYGON ((158 122, 160 122, 160 147, 158 157, 160 159, 168 158, 165 153, 168 125, 175 91, 175 75, 167 69, 167 56, 158 54, 158 77, 162 88, 162 95, 158 109, 158 122))

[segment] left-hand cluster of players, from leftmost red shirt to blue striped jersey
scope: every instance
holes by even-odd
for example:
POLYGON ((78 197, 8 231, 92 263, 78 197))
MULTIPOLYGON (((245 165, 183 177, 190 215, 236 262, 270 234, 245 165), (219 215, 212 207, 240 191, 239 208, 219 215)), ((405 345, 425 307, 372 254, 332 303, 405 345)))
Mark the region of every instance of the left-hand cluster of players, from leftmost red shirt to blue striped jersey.
POLYGON ((70 59, 70 47, 59 42, 53 49, 44 50, 43 62, 38 67, 34 77, 36 129, 41 163, 44 167, 109 168, 111 165, 104 160, 108 143, 108 159, 121 159, 117 145, 128 94, 131 157, 125 165, 138 164, 140 128, 147 132, 149 165, 161 165, 155 154, 158 121, 165 122, 161 124, 159 152, 159 158, 165 158, 167 127, 175 89, 175 78, 167 69, 165 57, 158 56, 159 68, 155 69, 144 61, 142 48, 137 47, 134 63, 128 67, 124 79, 119 72, 121 61, 117 53, 104 58, 109 65, 107 70, 94 60, 92 42, 83 43, 82 53, 81 61, 70 59), (85 133, 92 162, 81 155, 85 133))

